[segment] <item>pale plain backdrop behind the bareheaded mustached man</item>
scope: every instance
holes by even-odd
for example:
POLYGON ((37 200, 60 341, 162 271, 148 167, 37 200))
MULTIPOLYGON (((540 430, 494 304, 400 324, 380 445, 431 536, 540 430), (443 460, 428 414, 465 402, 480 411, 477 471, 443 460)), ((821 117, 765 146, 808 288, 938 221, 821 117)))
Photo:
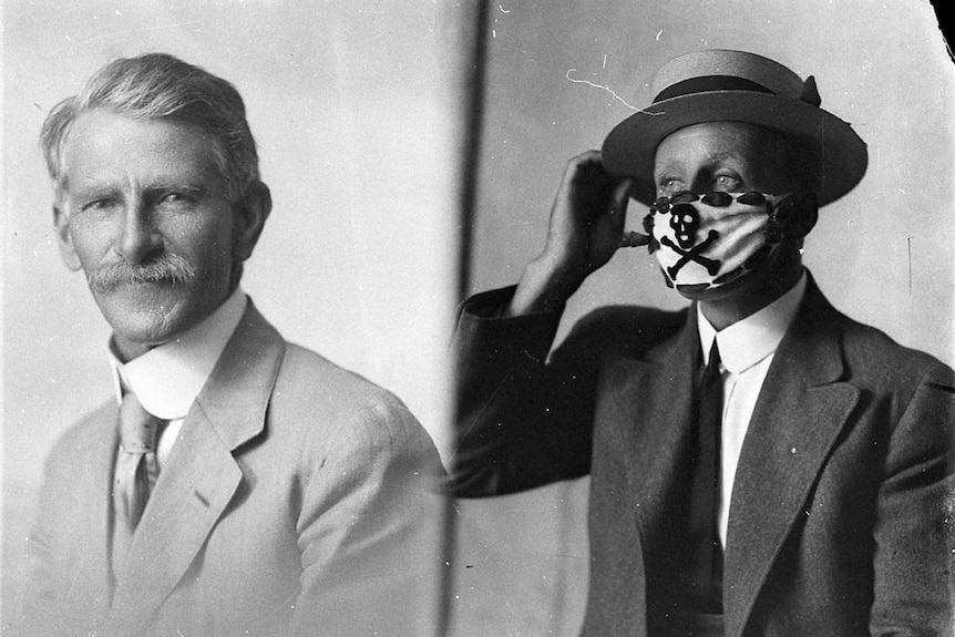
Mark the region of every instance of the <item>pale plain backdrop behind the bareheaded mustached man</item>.
MULTIPOLYGON (((243 286, 289 340, 401 397, 441 442, 453 317, 460 9, 431 0, 3 2, 2 613, 54 439, 111 391, 60 261, 37 147, 115 56, 166 51, 243 94, 275 207, 243 286)), ((437 547, 435 547, 437 549, 437 547)))

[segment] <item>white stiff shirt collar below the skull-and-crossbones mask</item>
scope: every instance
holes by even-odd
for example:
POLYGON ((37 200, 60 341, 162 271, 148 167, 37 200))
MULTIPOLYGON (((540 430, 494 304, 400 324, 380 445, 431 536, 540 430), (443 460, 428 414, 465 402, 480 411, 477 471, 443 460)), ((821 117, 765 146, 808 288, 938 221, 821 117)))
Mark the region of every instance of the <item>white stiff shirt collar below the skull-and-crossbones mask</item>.
POLYGON ((704 362, 709 359, 713 339, 719 342, 722 367, 730 373, 742 373, 766 357, 776 352, 779 341, 795 318, 795 312, 805 295, 805 271, 788 292, 759 310, 739 320, 720 332, 710 325, 697 304, 697 326, 704 362))

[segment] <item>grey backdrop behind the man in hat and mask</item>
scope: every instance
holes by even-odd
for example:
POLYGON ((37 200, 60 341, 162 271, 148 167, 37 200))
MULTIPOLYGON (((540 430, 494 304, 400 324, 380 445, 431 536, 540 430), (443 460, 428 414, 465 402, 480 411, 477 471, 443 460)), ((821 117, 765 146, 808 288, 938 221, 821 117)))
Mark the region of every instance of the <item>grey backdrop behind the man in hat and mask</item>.
MULTIPOLYGON (((649 103, 645 82, 699 48, 743 49, 814 74, 822 106, 869 143, 859 188, 821 212, 805 263, 840 309, 949 364, 953 66, 923 0, 495 0, 471 291, 516 282, 544 245, 565 162, 649 103), (613 93, 612 93, 613 92, 613 93), (616 96, 618 95, 620 100, 616 96), (911 253, 910 253, 911 248, 911 253), (910 256, 911 255, 911 256, 910 256)), ((646 208, 633 203, 628 225, 646 208)), ((684 305, 645 250, 585 285, 606 302, 684 305)), ((567 327, 565 321, 564 329, 567 327)), ((484 635, 575 635, 587 577, 586 480, 463 503, 461 616, 484 635)))

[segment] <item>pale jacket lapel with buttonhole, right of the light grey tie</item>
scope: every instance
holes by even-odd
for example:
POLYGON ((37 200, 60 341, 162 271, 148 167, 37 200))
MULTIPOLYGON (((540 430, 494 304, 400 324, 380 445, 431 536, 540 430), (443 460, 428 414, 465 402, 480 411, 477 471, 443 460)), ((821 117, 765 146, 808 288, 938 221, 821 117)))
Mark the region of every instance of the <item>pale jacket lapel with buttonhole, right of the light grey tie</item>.
POLYGON ((243 473, 233 452, 265 427, 285 343, 248 304, 183 423, 133 536, 113 604, 135 633, 175 588, 225 511, 243 473))

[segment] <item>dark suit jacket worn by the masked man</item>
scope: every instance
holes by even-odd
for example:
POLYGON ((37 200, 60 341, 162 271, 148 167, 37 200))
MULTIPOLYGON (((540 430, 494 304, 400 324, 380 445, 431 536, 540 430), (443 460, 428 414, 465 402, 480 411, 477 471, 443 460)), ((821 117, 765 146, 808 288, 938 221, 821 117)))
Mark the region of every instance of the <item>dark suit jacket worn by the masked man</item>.
MULTIPOLYGON (((589 473, 585 635, 659 635, 685 512, 696 311, 604 308, 547 352, 556 315, 463 307, 459 495, 589 473)), ((743 443, 730 504, 728 636, 953 635, 952 370, 835 311, 810 280, 743 443)))

